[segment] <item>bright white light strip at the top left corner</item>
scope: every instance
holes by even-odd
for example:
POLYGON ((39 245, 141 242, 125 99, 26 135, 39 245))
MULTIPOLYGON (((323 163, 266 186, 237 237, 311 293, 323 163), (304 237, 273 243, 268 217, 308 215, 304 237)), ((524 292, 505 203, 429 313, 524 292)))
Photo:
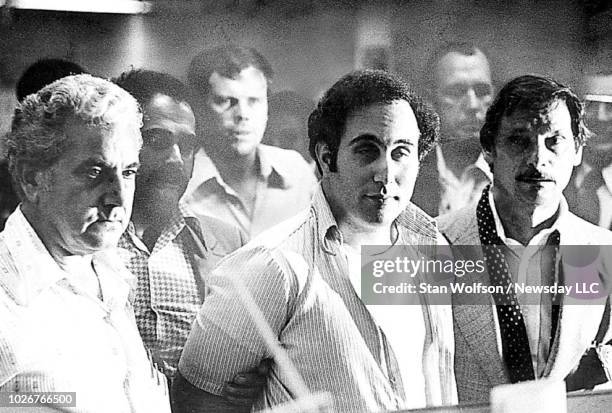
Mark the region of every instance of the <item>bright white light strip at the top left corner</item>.
POLYGON ((140 0, 0 0, 13 9, 55 10, 82 13, 144 14, 151 3, 140 0))

